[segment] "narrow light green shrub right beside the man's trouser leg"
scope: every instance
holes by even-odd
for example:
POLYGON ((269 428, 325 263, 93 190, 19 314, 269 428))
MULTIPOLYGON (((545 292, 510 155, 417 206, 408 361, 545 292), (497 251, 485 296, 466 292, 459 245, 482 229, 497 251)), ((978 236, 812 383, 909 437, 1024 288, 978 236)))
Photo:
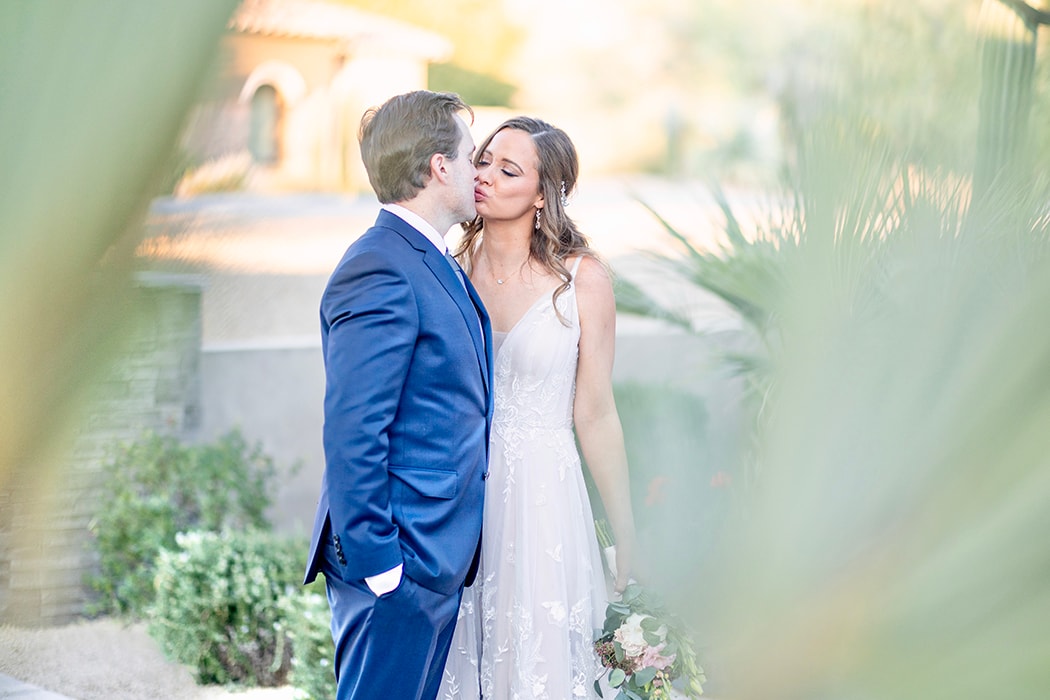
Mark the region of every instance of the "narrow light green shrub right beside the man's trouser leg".
POLYGON ((324 581, 318 579, 282 601, 288 636, 292 640, 292 673, 289 682, 298 700, 335 700, 332 670, 332 611, 324 596, 324 581))

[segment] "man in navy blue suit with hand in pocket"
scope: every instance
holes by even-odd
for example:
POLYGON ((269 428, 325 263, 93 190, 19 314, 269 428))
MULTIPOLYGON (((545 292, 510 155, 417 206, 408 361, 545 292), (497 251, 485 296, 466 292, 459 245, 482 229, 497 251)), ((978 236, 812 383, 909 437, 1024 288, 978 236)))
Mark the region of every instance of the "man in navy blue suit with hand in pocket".
POLYGON ((338 700, 433 700, 477 571, 491 332, 443 238, 475 216, 460 112, 426 90, 365 112, 383 207, 321 297, 326 469, 306 582, 324 574, 338 700))

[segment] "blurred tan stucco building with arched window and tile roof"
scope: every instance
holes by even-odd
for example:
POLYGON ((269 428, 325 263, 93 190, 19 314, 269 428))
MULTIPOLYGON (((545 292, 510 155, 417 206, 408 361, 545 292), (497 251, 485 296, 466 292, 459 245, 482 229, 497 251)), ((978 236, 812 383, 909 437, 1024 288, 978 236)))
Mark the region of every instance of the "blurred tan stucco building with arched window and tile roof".
POLYGON ((346 5, 245 0, 188 123, 185 155, 250 165, 253 191, 366 189, 361 113, 425 88, 428 64, 452 50, 444 37, 346 5))

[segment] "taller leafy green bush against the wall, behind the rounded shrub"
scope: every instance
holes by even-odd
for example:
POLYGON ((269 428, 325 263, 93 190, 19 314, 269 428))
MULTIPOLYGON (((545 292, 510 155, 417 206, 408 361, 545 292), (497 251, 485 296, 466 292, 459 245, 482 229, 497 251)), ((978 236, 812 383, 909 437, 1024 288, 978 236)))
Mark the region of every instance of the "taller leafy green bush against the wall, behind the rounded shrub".
POLYGON ((89 612, 141 617, 153 600, 153 570, 175 533, 268 527, 272 460, 236 430, 214 444, 187 446, 147 433, 120 446, 104 466, 99 511, 90 524, 99 599, 89 612))

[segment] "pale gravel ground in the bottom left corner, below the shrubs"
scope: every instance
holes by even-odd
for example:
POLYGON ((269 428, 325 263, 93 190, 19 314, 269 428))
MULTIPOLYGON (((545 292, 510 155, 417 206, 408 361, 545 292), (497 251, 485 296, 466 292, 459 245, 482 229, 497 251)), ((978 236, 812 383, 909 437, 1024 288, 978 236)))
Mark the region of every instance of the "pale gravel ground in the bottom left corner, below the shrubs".
POLYGON ((112 619, 0 627, 0 674, 76 700, 292 700, 293 690, 200 686, 168 661, 145 624, 112 619))

